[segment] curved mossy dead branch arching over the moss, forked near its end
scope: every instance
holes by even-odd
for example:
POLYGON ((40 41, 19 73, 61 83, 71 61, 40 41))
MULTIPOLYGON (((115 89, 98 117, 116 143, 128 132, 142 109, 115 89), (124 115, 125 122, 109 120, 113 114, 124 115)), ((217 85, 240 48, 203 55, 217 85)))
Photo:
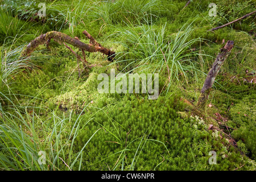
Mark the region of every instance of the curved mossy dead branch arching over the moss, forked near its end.
POLYGON ((111 51, 108 48, 102 47, 101 44, 97 43, 96 40, 88 34, 88 32, 83 32, 86 35, 86 38, 90 39, 90 44, 85 44, 81 42, 80 40, 77 40, 75 38, 71 38, 71 36, 68 36, 66 34, 63 34, 61 32, 57 31, 51 31, 47 32, 46 34, 42 34, 32 40, 27 47, 22 51, 21 56, 30 56, 35 49, 42 44, 49 44, 49 40, 53 39, 56 42, 62 44, 62 43, 68 43, 72 46, 75 46, 77 48, 80 48, 82 51, 88 51, 88 52, 102 52, 105 55, 108 55, 108 60, 113 61, 115 52, 111 51))

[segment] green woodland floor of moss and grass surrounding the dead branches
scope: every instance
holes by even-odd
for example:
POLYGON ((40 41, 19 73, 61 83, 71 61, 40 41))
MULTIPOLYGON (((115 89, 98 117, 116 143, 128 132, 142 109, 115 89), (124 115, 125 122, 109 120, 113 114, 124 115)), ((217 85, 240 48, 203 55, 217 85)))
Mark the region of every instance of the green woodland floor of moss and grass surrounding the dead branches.
POLYGON ((255 2, 186 3, 0 1, 0 170, 255 170, 255 14, 208 31, 255 11, 255 2), (89 44, 86 30, 115 60, 85 52, 94 67, 84 67, 53 40, 20 60, 31 40, 53 30, 89 44), (228 40, 234 48, 200 113, 200 90, 228 40), (158 73, 159 97, 99 93, 98 75, 111 69, 158 73))

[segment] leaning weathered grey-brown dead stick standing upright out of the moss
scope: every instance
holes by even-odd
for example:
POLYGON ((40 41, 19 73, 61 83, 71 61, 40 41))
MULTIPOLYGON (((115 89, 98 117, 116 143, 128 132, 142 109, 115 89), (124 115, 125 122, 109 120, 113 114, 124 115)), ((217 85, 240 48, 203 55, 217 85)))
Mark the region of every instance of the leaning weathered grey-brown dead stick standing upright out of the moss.
POLYGON ((221 52, 218 53, 216 60, 214 61, 212 68, 210 69, 207 75, 207 78, 204 81, 204 85, 203 85, 203 88, 201 89, 199 100, 197 102, 197 107, 202 111, 205 109, 208 96, 210 93, 210 89, 212 88, 212 85, 215 81, 218 71, 220 71, 222 64, 228 57, 231 49, 233 48, 233 44, 234 42, 232 40, 228 40, 224 48, 220 49, 221 52))

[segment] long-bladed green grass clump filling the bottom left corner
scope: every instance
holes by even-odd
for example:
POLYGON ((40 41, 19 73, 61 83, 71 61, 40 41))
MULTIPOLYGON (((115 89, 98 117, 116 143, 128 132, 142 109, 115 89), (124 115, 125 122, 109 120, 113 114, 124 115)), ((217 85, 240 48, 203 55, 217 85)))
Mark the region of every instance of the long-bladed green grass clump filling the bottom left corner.
POLYGON ((81 168, 82 151, 97 133, 95 131, 79 152, 73 153, 81 114, 75 116, 71 112, 60 117, 55 111, 46 109, 48 115, 45 117, 40 114, 44 108, 37 112, 36 107, 31 110, 29 106, 21 106, 23 112, 17 106, 13 105, 14 114, 0 107, 1 170, 72 170, 76 163, 81 168))

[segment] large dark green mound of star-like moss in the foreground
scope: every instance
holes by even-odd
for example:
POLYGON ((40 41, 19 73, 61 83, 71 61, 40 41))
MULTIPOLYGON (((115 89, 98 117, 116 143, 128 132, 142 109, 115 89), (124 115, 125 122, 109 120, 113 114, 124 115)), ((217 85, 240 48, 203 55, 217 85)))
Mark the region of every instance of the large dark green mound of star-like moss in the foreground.
MULTIPOLYGON (((104 130, 98 133, 97 139, 86 149, 87 155, 83 158, 83 164, 87 165, 83 165, 83 169, 108 169, 106 164, 112 164, 109 167, 114 168, 120 154, 116 152, 125 148, 126 141, 129 151, 121 155, 121 159, 126 156, 126 169, 131 167, 137 148, 141 154, 135 156, 135 159, 138 159, 134 166, 136 170, 154 169, 163 158, 166 160, 156 168, 157 170, 210 169, 212 166, 208 164, 208 153, 212 150, 218 155, 218 164, 212 169, 230 170, 236 168, 236 163, 244 161, 240 155, 232 151, 232 146, 224 138, 221 139, 218 134, 214 137, 215 135, 208 133, 208 126, 203 119, 179 118, 176 110, 182 110, 179 105, 183 105, 179 99, 170 97, 169 102, 164 105, 164 97, 159 98, 159 101, 161 104, 156 105, 158 109, 155 110, 148 106, 154 101, 141 100, 133 95, 125 96, 116 100, 112 107, 93 115, 93 121, 98 126, 89 123, 80 130, 76 140, 76 146, 79 147, 77 150, 95 130, 100 127, 104 130), (130 129, 126 140, 126 134, 130 129), (141 138, 143 135, 153 140, 146 141, 141 138), (156 140, 163 142, 170 154, 162 143, 154 142, 156 140), (141 142, 144 144, 143 147, 141 142), (89 166, 91 163, 93 164, 89 166)), ((86 113, 84 117, 88 117, 86 113)), ((82 121, 86 121, 85 118, 82 121)), ((247 164, 244 169, 249 168, 251 164, 247 164)), ((121 164, 118 163, 117 169, 121 169, 121 164)))

